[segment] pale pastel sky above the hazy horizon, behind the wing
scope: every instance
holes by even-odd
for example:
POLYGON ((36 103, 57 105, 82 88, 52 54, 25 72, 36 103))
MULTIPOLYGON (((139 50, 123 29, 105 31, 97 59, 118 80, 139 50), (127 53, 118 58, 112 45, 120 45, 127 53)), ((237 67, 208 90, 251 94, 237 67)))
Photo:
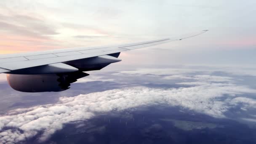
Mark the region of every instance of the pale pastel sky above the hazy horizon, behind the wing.
POLYGON ((191 39, 122 53, 122 64, 253 66, 255 6, 255 0, 1 0, 0 53, 112 45, 209 29, 191 39))

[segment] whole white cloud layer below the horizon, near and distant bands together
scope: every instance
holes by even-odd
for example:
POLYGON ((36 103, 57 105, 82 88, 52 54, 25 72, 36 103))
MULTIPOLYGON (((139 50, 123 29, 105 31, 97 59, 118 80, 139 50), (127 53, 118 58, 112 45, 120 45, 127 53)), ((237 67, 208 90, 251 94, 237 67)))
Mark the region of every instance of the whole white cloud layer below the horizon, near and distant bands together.
MULTIPOLYGON (((241 80, 234 75, 214 75, 216 71, 223 72, 219 69, 137 69, 85 77, 77 85, 111 81, 121 86, 108 91, 61 97, 56 104, 9 111, 0 116, 0 143, 17 143, 36 135, 44 141, 66 123, 141 107, 178 107, 217 118, 227 117, 229 109, 233 108, 238 108, 238 111, 256 109, 256 100, 247 96, 256 93, 256 90, 241 84, 241 80), (170 84, 172 88, 141 86, 145 83, 170 84), (173 88, 175 83, 178 85, 173 88), (128 87, 121 88, 124 85, 128 87)), ((253 121, 247 117, 243 120, 253 121)))

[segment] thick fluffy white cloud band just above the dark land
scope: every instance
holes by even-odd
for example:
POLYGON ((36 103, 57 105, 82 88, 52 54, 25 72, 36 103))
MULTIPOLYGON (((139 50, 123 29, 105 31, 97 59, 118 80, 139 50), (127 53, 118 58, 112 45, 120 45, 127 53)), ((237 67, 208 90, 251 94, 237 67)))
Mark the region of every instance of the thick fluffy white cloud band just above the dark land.
POLYGON ((75 97, 61 97, 56 104, 15 109, 1 116, 0 142, 17 143, 40 132, 43 132, 40 141, 44 141, 55 131, 63 128, 65 123, 88 120, 99 113, 121 112, 154 105, 168 105, 212 117, 226 117, 225 112, 232 107, 255 108, 253 104, 256 100, 236 97, 244 93, 256 93, 256 90, 235 84, 203 83, 189 88, 136 86, 75 97))

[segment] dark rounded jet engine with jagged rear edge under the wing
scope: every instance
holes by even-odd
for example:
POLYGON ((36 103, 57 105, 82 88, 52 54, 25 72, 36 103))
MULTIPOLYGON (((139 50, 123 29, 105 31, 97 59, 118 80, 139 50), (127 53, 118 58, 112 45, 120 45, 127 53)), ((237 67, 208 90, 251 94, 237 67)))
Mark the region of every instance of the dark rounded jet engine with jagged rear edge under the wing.
POLYGON ((11 88, 22 92, 51 92, 65 91, 77 79, 88 76, 84 72, 70 72, 48 75, 14 75, 7 74, 11 88))

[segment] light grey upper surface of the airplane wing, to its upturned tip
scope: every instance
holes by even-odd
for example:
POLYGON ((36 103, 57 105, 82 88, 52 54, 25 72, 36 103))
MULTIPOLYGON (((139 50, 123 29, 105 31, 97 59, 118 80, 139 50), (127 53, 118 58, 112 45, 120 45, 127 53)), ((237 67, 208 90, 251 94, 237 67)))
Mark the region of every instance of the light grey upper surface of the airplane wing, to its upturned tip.
POLYGON ((18 54, 4 54, 0 55, 0 73, 11 72, 13 70, 25 69, 30 67, 38 67, 48 64, 61 63, 65 61, 74 61, 78 59, 91 58, 96 56, 103 56, 112 53, 120 53, 130 51, 137 48, 149 47, 152 45, 159 45, 168 43, 170 41, 182 40, 189 37, 200 35, 207 30, 203 30, 194 35, 187 37, 178 37, 176 39, 160 39, 141 43, 131 43, 125 45, 116 45, 111 47, 97 47, 97 48, 66 48, 51 51, 40 51, 31 53, 18 54))

